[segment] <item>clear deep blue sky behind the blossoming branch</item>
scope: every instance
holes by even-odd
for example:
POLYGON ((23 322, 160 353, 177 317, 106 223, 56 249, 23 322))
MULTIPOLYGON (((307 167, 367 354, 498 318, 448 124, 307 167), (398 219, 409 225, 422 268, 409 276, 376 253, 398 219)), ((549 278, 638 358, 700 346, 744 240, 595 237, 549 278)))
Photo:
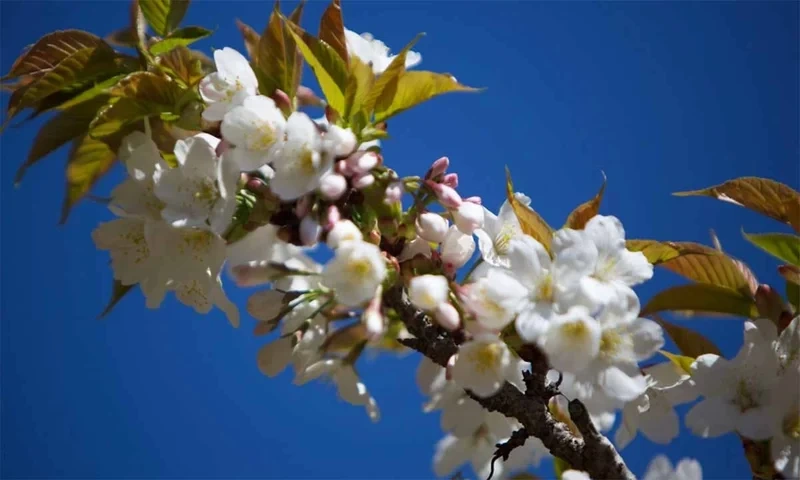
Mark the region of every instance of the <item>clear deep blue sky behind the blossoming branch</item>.
MULTIPOLYGON (((294 5, 294 2, 289 5, 294 5)), ((325 4, 311 2, 316 29, 325 4)), ((261 29, 271 4, 195 2, 186 24, 216 28, 199 44, 241 49, 239 17, 261 29)), ((56 29, 107 34, 128 3, 0 3, 0 70, 56 29)), ((450 72, 487 91, 442 97, 390 121, 386 161, 421 174, 448 155, 460 190, 492 209, 503 167, 553 225, 592 195, 604 171, 603 212, 629 238, 708 243, 766 283, 780 285, 766 254, 741 239, 780 225, 731 205, 670 193, 743 175, 798 188, 796 2, 347 2, 349 28, 399 50, 418 32, 420 68, 450 72)), ((5 108, 7 98, 3 97, 5 108)), ((197 316, 169 300, 150 311, 137 292, 104 321, 108 257, 90 231, 111 218, 83 202, 57 226, 65 152, 13 176, 40 122, 0 137, 2 214, 2 449, 0 474, 92 478, 431 478, 438 415, 423 415, 418 358, 380 355, 359 369, 383 414, 336 398, 330 385, 261 376, 263 338, 252 321, 232 330, 223 315, 197 316)), ((105 193, 119 170, 98 186, 105 193)), ((678 281, 657 271, 643 298, 678 281)), ((251 293, 232 290, 240 305, 251 293)), ((689 320, 727 355, 741 321, 689 320)), ((683 409, 685 411, 686 409, 683 409)), ((623 451, 637 474, 664 452, 694 456, 706 478, 746 478, 733 435, 685 434, 668 447, 638 437, 623 451)), ((551 475, 549 462, 540 474, 551 475)))

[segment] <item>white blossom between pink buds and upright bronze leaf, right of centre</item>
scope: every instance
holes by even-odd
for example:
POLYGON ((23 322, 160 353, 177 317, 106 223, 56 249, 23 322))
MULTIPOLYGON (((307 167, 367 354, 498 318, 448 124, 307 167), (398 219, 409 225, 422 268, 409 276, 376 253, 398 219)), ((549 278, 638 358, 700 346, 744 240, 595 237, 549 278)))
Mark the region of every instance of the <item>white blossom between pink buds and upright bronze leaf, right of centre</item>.
MULTIPOLYGON (((531 202, 530 198, 521 193, 516 193, 515 196, 523 205, 531 202)), ((498 267, 509 266, 507 254, 511 239, 521 235, 523 233, 519 220, 508 201, 503 202, 497 215, 484 208, 483 227, 475 230, 481 258, 487 264, 498 267)))

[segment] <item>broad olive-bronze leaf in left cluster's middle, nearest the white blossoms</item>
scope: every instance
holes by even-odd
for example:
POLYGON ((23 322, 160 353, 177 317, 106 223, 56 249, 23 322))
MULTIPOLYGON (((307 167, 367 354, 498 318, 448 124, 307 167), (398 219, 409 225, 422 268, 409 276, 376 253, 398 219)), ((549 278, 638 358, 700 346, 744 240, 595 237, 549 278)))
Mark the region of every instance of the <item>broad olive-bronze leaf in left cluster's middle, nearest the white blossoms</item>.
POLYGON ((182 89, 167 77, 136 72, 120 80, 110 93, 117 98, 101 109, 89 126, 89 133, 95 138, 116 133, 146 117, 174 114, 182 89))

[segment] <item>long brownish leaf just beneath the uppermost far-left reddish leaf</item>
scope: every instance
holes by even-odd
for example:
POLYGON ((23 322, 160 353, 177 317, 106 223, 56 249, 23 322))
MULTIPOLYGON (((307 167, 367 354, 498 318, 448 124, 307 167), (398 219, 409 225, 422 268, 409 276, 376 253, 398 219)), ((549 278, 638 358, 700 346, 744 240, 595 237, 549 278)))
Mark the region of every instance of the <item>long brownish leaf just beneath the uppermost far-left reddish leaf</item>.
POLYGON ((29 85, 14 92, 8 104, 8 118, 13 118, 25 108, 34 107, 62 89, 90 81, 104 73, 115 72, 118 69, 115 58, 116 54, 106 44, 83 48, 65 57, 29 85))

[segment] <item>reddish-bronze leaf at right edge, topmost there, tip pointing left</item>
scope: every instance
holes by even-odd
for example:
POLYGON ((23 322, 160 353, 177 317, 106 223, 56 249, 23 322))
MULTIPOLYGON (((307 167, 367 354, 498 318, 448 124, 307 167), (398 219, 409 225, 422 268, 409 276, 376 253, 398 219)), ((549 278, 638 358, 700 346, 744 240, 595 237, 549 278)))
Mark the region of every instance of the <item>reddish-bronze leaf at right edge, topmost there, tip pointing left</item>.
POLYGON ((713 187, 676 192, 673 195, 713 197, 772 217, 800 232, 800 193, 775 180, 741 177, 713 187))

